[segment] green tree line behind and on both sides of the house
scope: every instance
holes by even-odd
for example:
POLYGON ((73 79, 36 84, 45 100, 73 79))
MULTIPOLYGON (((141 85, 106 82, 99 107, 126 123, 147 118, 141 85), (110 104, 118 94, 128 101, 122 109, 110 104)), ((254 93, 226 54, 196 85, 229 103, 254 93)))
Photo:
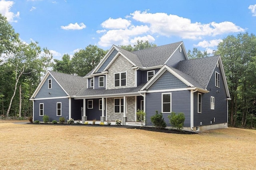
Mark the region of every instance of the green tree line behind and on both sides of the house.
MULTIPOLYGON (((0 115, 27 117, 32 115, 29 100, 48 69, 85 76, 108 51, 88 45, 73 56, 64 54, 53 59, 50 51, 38 42, 24 43, 6 17, 0 14, 0 115)), ((127 51, 156 47, 148 41, 120 45, 127 51)), ((256 37, 254 34, 229 35, 212 54, 197 48, 188 50, 189 59, 221 55, 231 100, 231 126, 256 127, 256 37)))

